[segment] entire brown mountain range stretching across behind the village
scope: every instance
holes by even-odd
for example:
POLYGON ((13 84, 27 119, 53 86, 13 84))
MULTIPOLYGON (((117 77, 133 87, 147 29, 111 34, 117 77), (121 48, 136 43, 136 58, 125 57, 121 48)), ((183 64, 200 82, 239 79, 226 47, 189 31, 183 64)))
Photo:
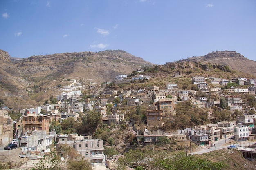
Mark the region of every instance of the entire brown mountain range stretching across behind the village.
POLYGON ((170 81, 168 78, 174 74, 173 71, 179 71, 187 78, 209 73, 223 78, 256 77, 255 66, 255 61, 248 60, 235 51, 217 51, 202 57, 191 57, 156 66, 123 50, 58 53, 24 59, 12 58, 7 52, 0 50, 0 99, 9 108, 30 108, 43 104, 51 95, 61 93, 56 87, 70 85, 72 79, 83 80, 81 85, 86 89, 96 84, 97 91, 100 91, 103 82, 111 82, 117 75, 128 75, 137 68, 144 67, 152 70, 147 71, 147 74, 158 78, 159 81, 155 81, 158 84, 155 85, 162 88, 166 83, 160 82, 162 79, 170 81), (225 73, 228 76, 225 76, 225 73))

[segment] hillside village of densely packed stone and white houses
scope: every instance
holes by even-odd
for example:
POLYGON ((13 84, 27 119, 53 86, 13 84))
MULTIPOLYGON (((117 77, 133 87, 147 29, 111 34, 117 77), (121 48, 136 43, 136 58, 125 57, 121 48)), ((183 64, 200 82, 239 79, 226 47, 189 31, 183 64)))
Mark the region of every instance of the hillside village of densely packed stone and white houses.
MULTIPOLYGON (((180 73, 176 72, 173 77, 179 78, 180 73)), ((197 146, 208 146, 226 138, 237 142, 255 140, 256 79, 193 77, 191 82, 195 88, 189 90, 182 89, 176 82, 167 83, 164 89, 157 86, 118 90, 112 88, 120 84, 150 82, 150 79, 151 76, 144 73, 144 69, 137 69, 131 75, 116 75, 113 82, 101 85, 106 88, 102 88, 102 91, 98 89, 98 94, 98 84, 93 79, 64 79, 71 81, 70 85, 54 87, 59 89, 59 94, 51 96, 44 105, 18 110, 18 119, 12 119, 12 110, 2 105, 0 145, 5 146, 17 139, 21 155, 43 155, 50 152, 53 144, 56 144, 57 150, 62 144, 67 144, 82 156, 88 157, 92 166, 107 165, 111 168, 115 159, 106 157, 104 146, 124 145, 124 141, 111 141, 110 137, 96 139, 94 132, 81 133, 76 129, 63 134, 55 126, 56 122, 67 122, 70 119, 83 122, 83 116, 87 117, 90 112, 99 114, 101 124, 125 126, 130 130, 134 138, 126 141, 127 146, 154 146, 163 139, 188 139, 197 146), (85 94, 85 81, 90 82, 88 90, 94 91, 94 95, 85 94), (187 106, 191 107, 186 111, 180 110, 187 106), (138 115, 133 119, 128 116, 130 107, 136 108, 138 115), (141 111, 143 108, 146 108, 144 115, 141 111), (192 114, 193 109, 197 108, 200 109, 197 117, 186 115, 188 111, 192 114), (178 124, 178 121, 183 125, 178 124)), ((255 151, 245 155, 249 160, 256 159, 255 151)))

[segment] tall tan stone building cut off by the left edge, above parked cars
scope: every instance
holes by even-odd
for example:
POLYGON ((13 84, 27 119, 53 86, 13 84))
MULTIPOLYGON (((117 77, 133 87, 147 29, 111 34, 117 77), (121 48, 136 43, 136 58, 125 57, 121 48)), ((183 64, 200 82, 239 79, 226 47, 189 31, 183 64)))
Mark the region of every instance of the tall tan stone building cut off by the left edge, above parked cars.
POLYGON ((0 145, 13 140, 13 119, 7 110, 0 110, 0 145))

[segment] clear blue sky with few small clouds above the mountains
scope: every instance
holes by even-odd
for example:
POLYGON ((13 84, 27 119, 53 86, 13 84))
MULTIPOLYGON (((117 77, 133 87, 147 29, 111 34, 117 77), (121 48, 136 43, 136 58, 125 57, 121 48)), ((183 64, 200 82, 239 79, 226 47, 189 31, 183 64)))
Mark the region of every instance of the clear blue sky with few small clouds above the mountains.
POLYGON ((216 50, 256 60, 255 0, 0 0, 0 49, 121 49, 154 64, 216 50))

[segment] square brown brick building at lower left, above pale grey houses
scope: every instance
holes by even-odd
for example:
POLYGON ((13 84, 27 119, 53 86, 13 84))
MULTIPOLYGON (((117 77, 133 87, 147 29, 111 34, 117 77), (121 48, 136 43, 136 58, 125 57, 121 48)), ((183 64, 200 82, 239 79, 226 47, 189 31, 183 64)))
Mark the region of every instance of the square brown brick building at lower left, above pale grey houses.
POLYGON ((29 114, 23 116, 22 125, 23 133, 27 132, 27 135, 30 135, 34 130, 43 130, 49 135, 50 116, 29 114))

